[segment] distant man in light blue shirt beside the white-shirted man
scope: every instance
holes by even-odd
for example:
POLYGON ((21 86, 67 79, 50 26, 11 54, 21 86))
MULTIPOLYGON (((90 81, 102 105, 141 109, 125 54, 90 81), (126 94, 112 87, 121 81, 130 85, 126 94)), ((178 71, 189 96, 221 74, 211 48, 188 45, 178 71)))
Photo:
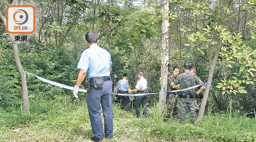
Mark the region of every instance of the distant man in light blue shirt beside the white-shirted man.
MULTIPOLYGON (((127 80, 127 73, 123 73, 123 79, 119 80, 117 83, 117 93, 120 94, 128 94, 128 89, 129 87, 129 83, 127 80)), ((129 111, 129 107, 130 107, 130 98, 129 96, 123 96, 120 95, 119 98, 121 99, 121 110, 123 110, 125 108, 125 104, 126 104, 126 111, 129 111)))

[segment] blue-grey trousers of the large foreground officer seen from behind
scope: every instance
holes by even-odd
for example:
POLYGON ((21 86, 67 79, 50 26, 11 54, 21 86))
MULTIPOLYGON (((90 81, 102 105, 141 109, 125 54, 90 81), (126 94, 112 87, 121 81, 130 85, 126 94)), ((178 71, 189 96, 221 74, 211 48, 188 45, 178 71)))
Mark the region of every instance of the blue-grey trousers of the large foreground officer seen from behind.
POLYGON ((105 137, 113 137, 113 106, 112 106, 112 82, 104 82, 102 89, 95 89, 87 92, 86 103, 88 106, 90 124, 97 139, 103 139, 103 125, 101 120, 101 107, 104 116, 105 137))

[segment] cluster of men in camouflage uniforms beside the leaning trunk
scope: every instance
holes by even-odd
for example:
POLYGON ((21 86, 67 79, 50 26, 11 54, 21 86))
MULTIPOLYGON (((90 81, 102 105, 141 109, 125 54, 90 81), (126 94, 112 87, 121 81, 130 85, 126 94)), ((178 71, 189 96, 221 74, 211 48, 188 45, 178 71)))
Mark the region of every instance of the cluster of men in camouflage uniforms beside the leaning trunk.
MULTIPOLYGON (((196 76, 196 70, 192 69, 190 62, 184 64, 184 73, 179 74, 180 69, 178 66, 174 66, 172 72, 173 76, 168 77, 168 90, 170 91, 203 84, 200 78, 196 76)), ((180 122, 184 122, 187 108, 191 110, 191 120, 194 122, 196 119, 196 111, 199 110, 201 99, 203 99, 202 92, 204 89, 205 86, 203 85, 194 89, 169 93, 167 95, 167 118, 175 114, 175 107, 177 106, 177 110, 179 111, 178 119, 180 122), (176 105, 176 103, 178 104, 176 105)))

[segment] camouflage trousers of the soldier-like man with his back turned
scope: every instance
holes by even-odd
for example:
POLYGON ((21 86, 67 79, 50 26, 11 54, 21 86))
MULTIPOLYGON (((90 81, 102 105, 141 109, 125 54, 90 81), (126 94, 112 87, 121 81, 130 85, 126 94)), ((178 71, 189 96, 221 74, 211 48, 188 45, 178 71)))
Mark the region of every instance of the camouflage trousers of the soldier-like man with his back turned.
POLYGON ((188 95, 187 98, 179 97, 178 102, 179 102, 179 105, 178 105, 179 121, 184 122, 185 116, 187 114, 187 108, 189 108, 191 120, 192 122, 195 122, 196 110, 197 110, 196 100, 189 98, 189 95, 188 95))

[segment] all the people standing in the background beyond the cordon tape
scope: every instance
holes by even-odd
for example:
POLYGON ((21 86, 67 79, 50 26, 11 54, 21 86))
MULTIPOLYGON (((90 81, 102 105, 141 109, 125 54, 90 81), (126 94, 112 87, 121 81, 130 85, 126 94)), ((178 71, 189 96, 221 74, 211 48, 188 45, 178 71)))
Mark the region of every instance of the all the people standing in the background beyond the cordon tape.
MULTIPOLYGON (((168 77, 168 90, 174 91, 179 89, 185 89, 188 87, 192 87, 195 85, 202 84, 203 82, 199 77, 196 76, 196 70, 192 69, 192 64, 187 62, 184 65, 184 73, 179 74, 180 69, 178 66, 174 66, 172 68, 172 76, 168 77)), ((117 93, 119 94, 130 94, 137 92, 139 94, 148 93, 147 92, 147 80, 143 77, 142 70, 138 71, 138 82, 135 86, 135 89, 129 89, 129 83, 127 80, 127 73, 123 73, 123 79, 118 81, 117 84, 117 93)), ((205 86, 201 86, 195 89, 189 89, 185 91, 180 91, 176 93, 168 93, 167 94, 167 115, 166 118, 170 118, 171 115, 176 115, 177 110, 179 111, 178 119, 180 122, 184 122, 185 115, 187 114, 187 107, 191 110, 191 118, 192 121, 195 121, 196 112, 199 111, 201 105, 201 99, 203 98, 202 91, 205 89, 205 86)), ((130 97, 128 95, 119 95, 117 96, 120 99, 121 110, 125 109, 129 110, 130 107, 130 97)), ((147 117, 147 95, 142 95, 135 97, 135 110, 136 116, 139 118, 141 116, 140 107, 143 108, 143 116, 147 117)))

